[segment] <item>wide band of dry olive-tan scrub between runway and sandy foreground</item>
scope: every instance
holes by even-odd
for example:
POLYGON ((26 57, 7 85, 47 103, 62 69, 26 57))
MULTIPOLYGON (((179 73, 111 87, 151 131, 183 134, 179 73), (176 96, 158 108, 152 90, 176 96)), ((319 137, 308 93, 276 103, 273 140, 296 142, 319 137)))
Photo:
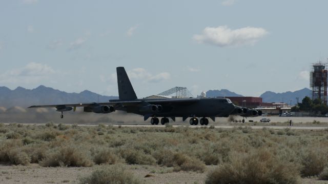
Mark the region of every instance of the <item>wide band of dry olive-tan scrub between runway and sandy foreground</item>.
POLYGON ((209 178, 242 171, 239 178, 277 183, 319 175, 328 165, 328 130, 80 127, 51 122, 46 126, 0 124, 0 129, 0 161, 14 165, 89 167, 126 162, 196 172, 206 172, 205 165, 218 165, 218 174, 209 178), (295 177, 286 178, 284 173, 295 177))

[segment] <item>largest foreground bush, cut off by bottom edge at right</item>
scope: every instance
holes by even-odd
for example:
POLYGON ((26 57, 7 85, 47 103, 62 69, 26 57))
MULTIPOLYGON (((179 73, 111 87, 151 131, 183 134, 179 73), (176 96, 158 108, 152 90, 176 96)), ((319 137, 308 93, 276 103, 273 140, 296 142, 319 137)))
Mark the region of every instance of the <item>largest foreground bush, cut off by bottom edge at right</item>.
POLYGON ((284 162, 271 152, 258 150, 251 154, 234 153, 231 162, 211 171, 206 184, 212 183, 298 183, 293 163, 284 162))

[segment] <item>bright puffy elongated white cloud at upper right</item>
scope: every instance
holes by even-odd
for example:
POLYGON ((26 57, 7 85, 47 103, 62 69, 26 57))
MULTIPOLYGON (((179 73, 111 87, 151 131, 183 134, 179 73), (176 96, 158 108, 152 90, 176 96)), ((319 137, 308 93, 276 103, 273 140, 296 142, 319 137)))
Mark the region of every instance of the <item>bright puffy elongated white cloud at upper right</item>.
POLYGON ((268 31, 263 28, 245 27, 232 30, 228 26, 219 26, 217 28, 206 27, 202 34, 194 35, 193 39, 198 43, 206 43, 218 47, 235 47, 254 45, 267 34, 268 31))

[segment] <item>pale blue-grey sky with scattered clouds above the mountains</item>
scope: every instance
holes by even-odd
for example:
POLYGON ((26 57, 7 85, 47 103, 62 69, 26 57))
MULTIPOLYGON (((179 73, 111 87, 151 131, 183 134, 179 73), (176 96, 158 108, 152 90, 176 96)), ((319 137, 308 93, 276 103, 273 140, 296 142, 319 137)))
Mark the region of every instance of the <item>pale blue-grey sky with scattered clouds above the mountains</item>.
POLYGON ((327 62, 328 1, 0 0, 0 86, 138 97, 309 88, 327 62))

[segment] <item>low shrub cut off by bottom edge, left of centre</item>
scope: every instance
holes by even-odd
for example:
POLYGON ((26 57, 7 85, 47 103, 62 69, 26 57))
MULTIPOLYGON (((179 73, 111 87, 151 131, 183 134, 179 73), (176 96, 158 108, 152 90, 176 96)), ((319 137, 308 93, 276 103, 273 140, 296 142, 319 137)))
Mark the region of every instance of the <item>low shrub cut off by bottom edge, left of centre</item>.
POLYGON ((133 174, 129 173, 122 166, 110 166, 100 168, 91 173, 90 176, 79 179, 81 184, 139 184, 139 181, 133 174))

